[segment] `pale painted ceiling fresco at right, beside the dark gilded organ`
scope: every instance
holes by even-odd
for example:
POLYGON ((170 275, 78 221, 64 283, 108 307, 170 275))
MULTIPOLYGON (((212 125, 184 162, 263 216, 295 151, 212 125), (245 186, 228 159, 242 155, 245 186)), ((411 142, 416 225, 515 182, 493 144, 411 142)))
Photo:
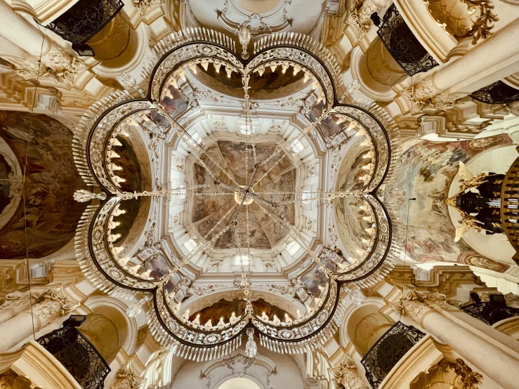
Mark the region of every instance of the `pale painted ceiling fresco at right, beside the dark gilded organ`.
POLYGON ((386 200, 398 204, 400 219, 409 226, 405 251, 417 262, 457 262, 475 264, 499 272, 508 265, 480 256, 464 242, 454 242, 455 228, 447 213, 447 194, 456 176, 459 161, 465 164, 475 155, 492 147, 511 145, 507 135, 456 142, 424 141, 410 145, 402 154, 403 166, 386 200))

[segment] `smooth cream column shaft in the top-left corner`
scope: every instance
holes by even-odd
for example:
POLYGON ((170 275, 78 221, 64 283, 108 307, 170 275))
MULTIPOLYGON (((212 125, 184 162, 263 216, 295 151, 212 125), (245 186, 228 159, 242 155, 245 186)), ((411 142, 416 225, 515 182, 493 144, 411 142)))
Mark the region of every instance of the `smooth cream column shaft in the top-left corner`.
POLYGON ((34 56, 45 54, 51 48, 51 41, 39 31, 38 27, 15 13, 5 0, 0 0, 0 15, 2 37, 34 56))

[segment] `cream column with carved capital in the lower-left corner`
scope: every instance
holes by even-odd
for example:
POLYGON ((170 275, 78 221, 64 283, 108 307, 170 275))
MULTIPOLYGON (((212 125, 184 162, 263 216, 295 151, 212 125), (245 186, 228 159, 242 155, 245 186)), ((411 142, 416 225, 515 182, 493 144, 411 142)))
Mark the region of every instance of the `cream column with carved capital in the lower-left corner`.
POLYGON ((77 308, 63 289, 48 291, 44 300, 0 324, 0 352, 6 352, 32 334, 77 308))

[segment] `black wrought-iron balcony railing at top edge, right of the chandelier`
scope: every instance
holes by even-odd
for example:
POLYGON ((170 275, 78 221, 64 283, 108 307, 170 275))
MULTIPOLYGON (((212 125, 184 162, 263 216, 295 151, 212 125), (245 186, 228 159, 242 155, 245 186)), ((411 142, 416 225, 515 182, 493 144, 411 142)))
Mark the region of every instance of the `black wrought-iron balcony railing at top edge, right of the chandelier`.
POLYGON ((405 24, 395 4, 391 5, 384 14, 377 34, 398 65, 409 76, 427 72, 438 66, 438 62, 421 46, 419 40, 405 24))

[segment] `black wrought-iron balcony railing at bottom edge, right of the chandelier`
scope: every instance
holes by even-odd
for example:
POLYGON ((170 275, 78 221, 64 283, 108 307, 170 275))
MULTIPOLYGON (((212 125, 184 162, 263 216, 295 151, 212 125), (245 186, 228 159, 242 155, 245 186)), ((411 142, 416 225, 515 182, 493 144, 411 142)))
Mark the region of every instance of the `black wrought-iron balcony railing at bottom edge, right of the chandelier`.
POLYGON ((360 363, 366 369, 366 378, 373 389, 379 388, 383 379, 395 367, 395 364, 420 341, 423 334, 419 329, 396 322, 369 349, 360 363))

